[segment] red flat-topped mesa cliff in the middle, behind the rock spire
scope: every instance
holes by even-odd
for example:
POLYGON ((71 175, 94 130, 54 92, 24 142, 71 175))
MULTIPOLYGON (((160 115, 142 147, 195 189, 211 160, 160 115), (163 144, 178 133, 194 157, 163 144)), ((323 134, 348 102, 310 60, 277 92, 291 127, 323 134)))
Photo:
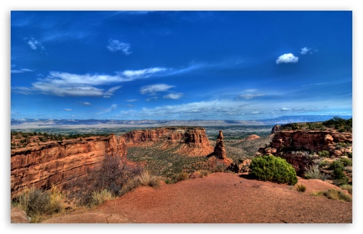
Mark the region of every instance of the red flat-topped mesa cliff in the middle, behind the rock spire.
POLYGON ((213 152, 206 130, 199 127, 162 127, 132 130, 122 135, 127 147, 160 143, 164 148, 179 144, 178 152, 190 156, 206 156, 213 152))

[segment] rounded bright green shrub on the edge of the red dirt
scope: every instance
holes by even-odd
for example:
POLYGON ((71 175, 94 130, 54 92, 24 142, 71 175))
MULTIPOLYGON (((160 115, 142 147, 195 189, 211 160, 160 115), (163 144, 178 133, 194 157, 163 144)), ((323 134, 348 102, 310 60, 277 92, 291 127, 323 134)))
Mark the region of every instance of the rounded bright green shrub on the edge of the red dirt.
POLYGON ((298 183, 295 169, 280 157, 254 157, 249 168, 251 177, 258 180, 289 185, 298 183))

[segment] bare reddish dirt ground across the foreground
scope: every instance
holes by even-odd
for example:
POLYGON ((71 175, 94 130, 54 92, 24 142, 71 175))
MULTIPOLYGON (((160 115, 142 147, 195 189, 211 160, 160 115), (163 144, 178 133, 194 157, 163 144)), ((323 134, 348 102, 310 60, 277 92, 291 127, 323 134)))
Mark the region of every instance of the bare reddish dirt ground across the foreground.
POLYGON ((317 179, 291 186, 214 173, 158 189, 140 187, 87 213, 43 223, 352 223, 352 203, 311 196, 337 188, 317 179))

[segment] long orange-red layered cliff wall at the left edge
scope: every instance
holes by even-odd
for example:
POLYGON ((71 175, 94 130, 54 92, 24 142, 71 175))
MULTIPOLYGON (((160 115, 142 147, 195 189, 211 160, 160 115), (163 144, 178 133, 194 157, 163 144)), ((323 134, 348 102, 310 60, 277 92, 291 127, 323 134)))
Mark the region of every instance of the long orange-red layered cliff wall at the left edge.
POLYGON ((11 150, 11 196, 23 186, 46 189, 55 184, 62 187, 78 178, 88 177, 107 154, 126 157, 124 139, 110 135, 52 141, 11 150))

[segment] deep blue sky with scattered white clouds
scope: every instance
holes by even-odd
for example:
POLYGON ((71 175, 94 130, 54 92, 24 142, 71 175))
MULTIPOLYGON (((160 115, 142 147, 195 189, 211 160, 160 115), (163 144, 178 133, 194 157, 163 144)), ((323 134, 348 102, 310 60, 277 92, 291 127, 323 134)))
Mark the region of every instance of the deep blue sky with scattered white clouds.
POLYGON ((352 11, 11 11, 11 118, 352 115, 352 11))

